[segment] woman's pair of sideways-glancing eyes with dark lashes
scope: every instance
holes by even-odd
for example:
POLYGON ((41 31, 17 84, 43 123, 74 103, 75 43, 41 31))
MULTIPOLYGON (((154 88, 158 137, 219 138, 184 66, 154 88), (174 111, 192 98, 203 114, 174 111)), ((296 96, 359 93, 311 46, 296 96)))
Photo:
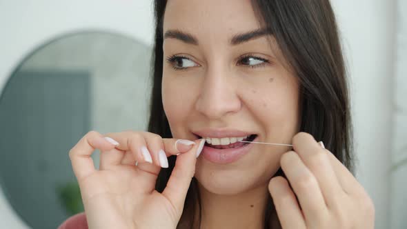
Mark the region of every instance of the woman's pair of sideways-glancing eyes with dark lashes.
MULTIPOLYGON (((188 68, 198 67, 199 64, 192 61, 189 57, 182 54, 175 54, 166 58, 174 70, 186 70, 188 68)), ((262 57, 257 57, 256 54, 248 53, 239 57, 237 66, 244 66, 246 68, 261 68, 269 64, 270 61, 262 57)))

